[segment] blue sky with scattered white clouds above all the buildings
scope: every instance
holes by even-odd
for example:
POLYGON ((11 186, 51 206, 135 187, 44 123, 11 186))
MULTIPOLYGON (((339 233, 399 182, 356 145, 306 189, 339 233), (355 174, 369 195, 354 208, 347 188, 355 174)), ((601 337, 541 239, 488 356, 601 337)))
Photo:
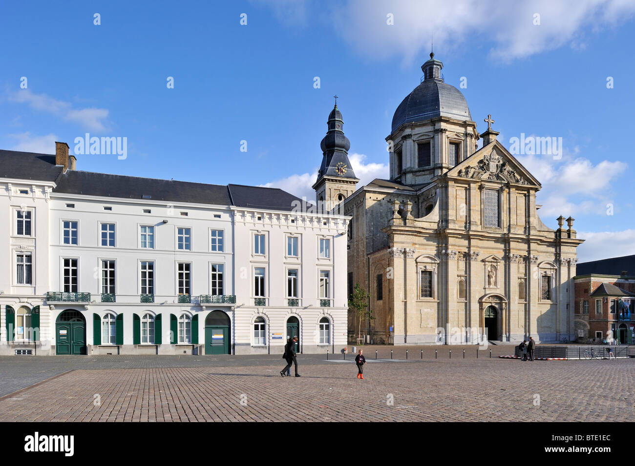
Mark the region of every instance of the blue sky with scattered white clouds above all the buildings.
POLYGON ((53 141, 73 150, 85 133, 126 137, 125 160, 78 155, 78 169, 266 184, 312 198, 333 94, 356 174, 363 183, 387 176, 392 114, 417 86, 434 34, 445 81, 459 87, 467 79, 461 90, 479 131, 491 113, 508 148, 521 133, 563 138, 559 160, 518 156, 544 187, 545 224, 555 228, 559 214, 575 217, 587 239, 580 261, 635 254, 635 5, 29 5, 5 3, 0 11, 0 148, 53 153, 53 141))

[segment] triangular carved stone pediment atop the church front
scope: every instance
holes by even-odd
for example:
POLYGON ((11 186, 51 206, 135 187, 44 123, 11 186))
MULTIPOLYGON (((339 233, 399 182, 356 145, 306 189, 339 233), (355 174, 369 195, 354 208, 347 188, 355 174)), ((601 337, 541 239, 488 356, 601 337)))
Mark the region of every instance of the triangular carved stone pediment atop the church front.
POLYGON ((448 171, 448 176, 540 186, 538 180, 498 141, 474 152, 448 171))

